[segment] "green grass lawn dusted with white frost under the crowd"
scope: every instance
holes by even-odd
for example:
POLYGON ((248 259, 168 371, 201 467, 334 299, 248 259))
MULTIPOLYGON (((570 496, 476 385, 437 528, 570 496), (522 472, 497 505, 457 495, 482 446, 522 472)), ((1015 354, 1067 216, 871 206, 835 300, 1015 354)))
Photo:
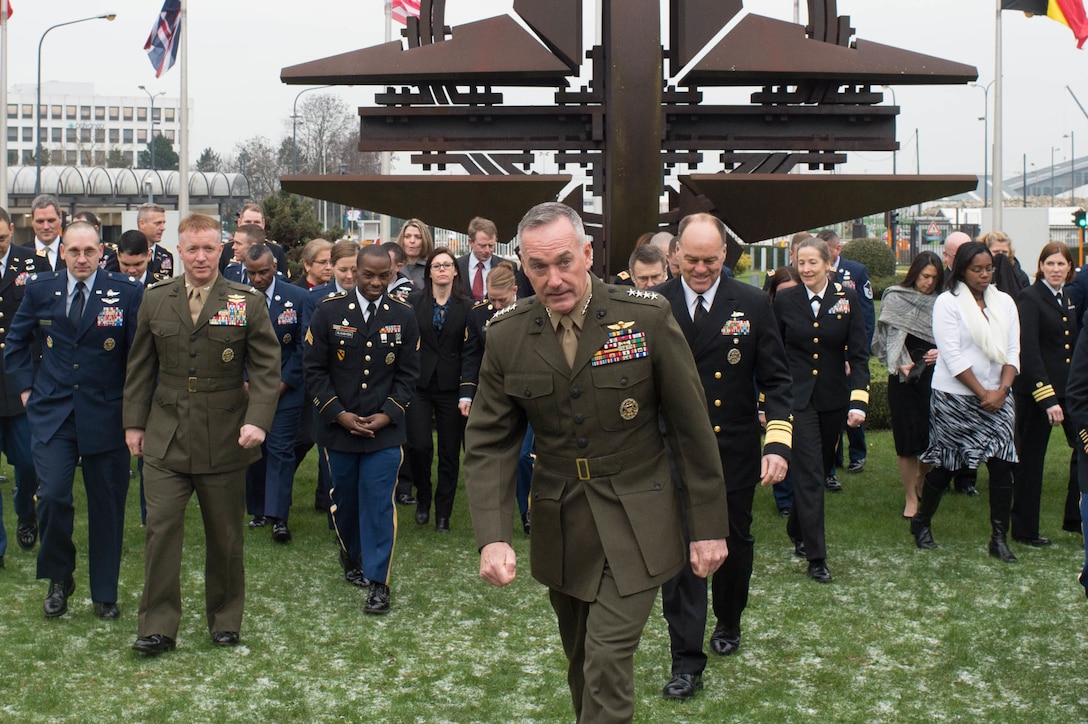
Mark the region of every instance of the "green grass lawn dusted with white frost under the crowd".
MULTIPOLYGON (((668 635, 659 606, 635 660, 638 721, 1077 722, 1088 720, 1088 601, 1076 584, 1078 536, 1061 530, 1068 449, 1055 433, 1041 531, 1019 563, 986 553, 979 498, 950 495, 919 551, 901 518, 890 433, 869 435, 868 466, 828 495, 828 565, 807 579, 769 490, 756 495, 755 576, 738 655, 710 654, 705 688, 666 701, 668 635)), ((312 461, 311 461, 312 463, 312 461)), ((312 470, 312 465, 306 466, 312 470)), ((10 469, 9 469, 10 475, 10 469)), ((87 590, 86 513, 76 491, 76 593, 69 613, 41 614, 46 582, 12 540, 0 570, 0 721, 554 722, 571 721, 566 661, 545 589, 523 565, 506 589, 477 576, 463 490, 453 533, 418 527, 400 508, 393 611, 362 613, 332 533, 299 478, 295 539, 247 531, 242 645, 213 647, 203 623, 203 543, 196 502, 186 529, 178 649, 129 650, 143 586, 143 529, 129 491, 120 621, 95 618, 87 590)), ((14 535, 11 486, 0 487, 14 535)), ((713 621, 710 622, 713 626, 713 621)))

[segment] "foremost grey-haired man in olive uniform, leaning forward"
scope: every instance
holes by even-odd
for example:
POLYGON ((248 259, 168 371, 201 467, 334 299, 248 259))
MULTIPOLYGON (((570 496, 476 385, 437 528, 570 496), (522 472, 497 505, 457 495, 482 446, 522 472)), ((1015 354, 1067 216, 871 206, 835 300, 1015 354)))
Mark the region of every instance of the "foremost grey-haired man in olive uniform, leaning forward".
POLYGON ((569 207, 534 207, 518 236, 536 296, 491 320, 466 440, 480 575, 495 586, 516 575, 515 477, 529 422, 532 575, 549 588, 574 713, 630 721, 634 651, 658 587, 689 560, 705 577, 728 554, 721 462, 665 300, 594 278, 592 244, 569 207), (683 477, 679 494, 660 417, 683 477))

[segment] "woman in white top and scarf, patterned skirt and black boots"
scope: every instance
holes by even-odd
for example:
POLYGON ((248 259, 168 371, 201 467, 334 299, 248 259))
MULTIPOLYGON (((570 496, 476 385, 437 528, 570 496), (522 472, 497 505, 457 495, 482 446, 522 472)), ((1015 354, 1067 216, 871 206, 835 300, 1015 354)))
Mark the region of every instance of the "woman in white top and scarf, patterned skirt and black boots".
POLYGON ((955 470, 990 471, 990 555, 1016 561, 1006 539, 1013 498, 1014 407, 1012 383, 1019 371, 1021 330, 1016 303, 999 292, 993 255, 978 242, 955 254, 948 291, 934 303, 938 356, 930 397, 926 475, 911 532, 918 548, 937 548, 930 521, 955 470))

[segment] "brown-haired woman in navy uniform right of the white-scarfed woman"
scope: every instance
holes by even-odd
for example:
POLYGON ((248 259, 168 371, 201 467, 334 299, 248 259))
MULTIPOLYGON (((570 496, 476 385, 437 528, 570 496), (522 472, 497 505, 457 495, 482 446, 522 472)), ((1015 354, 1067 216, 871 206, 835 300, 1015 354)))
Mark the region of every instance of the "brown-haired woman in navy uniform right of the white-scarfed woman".
MULTIPOLYGON (((1021 317, 1021 373, 1013 382, 1013 394, 1021 462, 1013 473, 1012 536, 1013 540, 1036 548, 1050 544, 1039 535, 1039 500, 1051 429, 1061 426, 1070 447, 1076 449, 1076 428, 1065 413, 1065 381, 1080 332, 1077 309, 1065 294, 1065 285, 1071 281, 1070 247, 1051 242, 1039 254, 1035 284, 1016 297, 1021 317)), ((1076 453, 1070 457, 1062 528, 1080 530, 1076 453)))

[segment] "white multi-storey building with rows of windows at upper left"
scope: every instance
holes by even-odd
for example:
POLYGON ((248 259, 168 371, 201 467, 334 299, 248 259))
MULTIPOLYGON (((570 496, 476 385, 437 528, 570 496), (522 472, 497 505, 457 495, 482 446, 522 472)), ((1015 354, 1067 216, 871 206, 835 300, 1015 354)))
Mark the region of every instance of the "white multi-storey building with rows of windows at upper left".
MULTIPOLYGON (((8 94, 4 133, 13 165, 34 165, 35 95, 33 84, 13 86, 8 94)), ((107 165, 116 151, 115 162, 135 168, 150 138, 162 134, 176 145, 181 136, 181 99, 156 95, 153 101, 152 112, 146 93, 98 96, 92 83, 42 83, 42 158, 49 165, 107 165)), ((190 114, 191 109, 190 99, 190 114)))

